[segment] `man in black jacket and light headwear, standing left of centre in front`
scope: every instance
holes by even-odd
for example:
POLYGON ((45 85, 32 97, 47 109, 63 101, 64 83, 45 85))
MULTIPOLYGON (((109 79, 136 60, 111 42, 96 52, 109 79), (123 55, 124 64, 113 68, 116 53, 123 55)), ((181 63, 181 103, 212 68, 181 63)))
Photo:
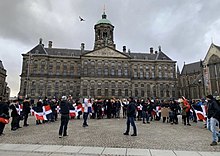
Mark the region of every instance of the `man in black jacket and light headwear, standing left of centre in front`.
POLYGON ((61 124, 59 129, 59 138, 67 136, 67 125, 69 122, 70 107, 67 102, 67 97, 63 96, 60 103, 61 124))

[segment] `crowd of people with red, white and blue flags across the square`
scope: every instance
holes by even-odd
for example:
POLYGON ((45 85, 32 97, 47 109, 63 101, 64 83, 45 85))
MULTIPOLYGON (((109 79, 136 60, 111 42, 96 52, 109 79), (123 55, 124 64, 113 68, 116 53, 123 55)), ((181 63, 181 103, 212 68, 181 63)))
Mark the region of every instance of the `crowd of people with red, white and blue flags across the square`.
POLYGON ((178 115, 182 116, 182 124, 191 126, 190 122, 201 120, 205 126, 212 132, 211 146, 217 145, 220 141, 220 134, 217 129, 220 120, 219 102, 208 95, 206 99, 187 100, 181 97, 175 99, 92 99, 73 100, 72 96, 63 96, 61 99, 39 99, 36 103, 28 98, 16 99, 10 102, 0 103, 0 135, 11 117, 11 130, 16 131, 21 128, 20 121, 23 120, 23 126, 27 127, 29 114, 35 116, 36 125, 45 122, 54 122, 60 114, 61 124, 59 128, 59 137, 67 136, 67 127, 70 119, 83 118, 83 127, 88 127, 87 119, 111 119, 127 118, 126 131, 124 135, 129 135, 130 125, 133 127, 133 134, 137 136, 137 127, 135 121, 141 121, 143 124, 150 124, 152 120, 163 123, 179 124, 178 115), (9 111, 9 109, 11 111, 9 111), (10 113, 9 113, 10 112, 10 113))

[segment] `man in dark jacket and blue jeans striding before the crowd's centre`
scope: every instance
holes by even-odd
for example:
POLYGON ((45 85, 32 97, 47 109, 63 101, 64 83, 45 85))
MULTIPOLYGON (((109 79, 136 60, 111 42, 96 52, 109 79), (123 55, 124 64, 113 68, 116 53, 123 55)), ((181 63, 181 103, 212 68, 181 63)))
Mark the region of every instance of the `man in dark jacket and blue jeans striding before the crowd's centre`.
POLYGON ((135 102, 132 97, 129 98, 129 104, 127 107, 127 129, 124 135, 129 135, 130 125, 133 127, 133 134, 131 136, 137 136, 137 128, 134 122, 134 118, 136 116, 136 107, 135 102))

